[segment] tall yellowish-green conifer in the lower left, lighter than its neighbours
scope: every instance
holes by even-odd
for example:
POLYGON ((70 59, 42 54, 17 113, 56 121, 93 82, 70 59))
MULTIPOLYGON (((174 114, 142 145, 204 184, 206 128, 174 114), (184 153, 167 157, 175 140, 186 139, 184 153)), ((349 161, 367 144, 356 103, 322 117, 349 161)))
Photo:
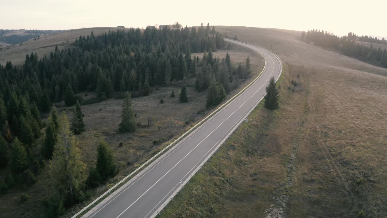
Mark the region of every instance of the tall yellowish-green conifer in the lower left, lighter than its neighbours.
POLYGON ((71 196, 74 196, 73 191, 86 180, 86 164, 82 162, 80 149, 70 131, 70 124, 64 111, 60 118, 57 144, 49 166, 56 189, 68 192, 71 196))

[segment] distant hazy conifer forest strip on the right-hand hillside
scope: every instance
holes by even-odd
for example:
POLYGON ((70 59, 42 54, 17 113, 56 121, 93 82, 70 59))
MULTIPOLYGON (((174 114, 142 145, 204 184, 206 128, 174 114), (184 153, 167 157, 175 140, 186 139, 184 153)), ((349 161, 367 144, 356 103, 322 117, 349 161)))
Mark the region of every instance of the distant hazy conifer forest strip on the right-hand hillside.
POLYGON ((301 34, 301 40, 306 43, 313 43, 323 48, 335 49, 344 55, 359 59, 370 64, 377 66, 387 67, 387 51, 380 47, 374 48, 373 45, 370 47, 361 45, 355 40, 358 39, 361 42, 371 43, 382 43, 385 44, 384 38, 382 40, 368 36, 356 36, 353 33, 348 33, 348 36, 336 36, 332 33, 328 33, 324 30, 320 31, 317 29, 308 30, 301 34))

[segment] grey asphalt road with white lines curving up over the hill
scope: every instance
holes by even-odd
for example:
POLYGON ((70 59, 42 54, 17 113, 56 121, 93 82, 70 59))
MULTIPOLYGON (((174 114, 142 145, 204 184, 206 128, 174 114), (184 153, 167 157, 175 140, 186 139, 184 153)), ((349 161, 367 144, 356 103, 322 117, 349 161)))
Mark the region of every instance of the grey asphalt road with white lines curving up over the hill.
POLYGON ((148 218, 156 215, 171 194, 180 188, 180 181, 187 182, 259 103, 270 78, 279 78, 282 63, 272 52, 247 43, 224 40, 264 56, 266 66, 260 78, 82 218, 148 218))

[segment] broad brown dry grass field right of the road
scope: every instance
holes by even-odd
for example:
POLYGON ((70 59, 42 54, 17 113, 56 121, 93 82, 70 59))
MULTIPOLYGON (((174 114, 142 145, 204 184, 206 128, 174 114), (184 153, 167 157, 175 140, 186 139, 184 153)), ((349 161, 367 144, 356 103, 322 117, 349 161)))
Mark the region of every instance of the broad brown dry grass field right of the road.
POLYGON ((260 104, 162 217, 387 217, 387 69, 298 31, 216 30, 284 61, 280 109, 260 104))

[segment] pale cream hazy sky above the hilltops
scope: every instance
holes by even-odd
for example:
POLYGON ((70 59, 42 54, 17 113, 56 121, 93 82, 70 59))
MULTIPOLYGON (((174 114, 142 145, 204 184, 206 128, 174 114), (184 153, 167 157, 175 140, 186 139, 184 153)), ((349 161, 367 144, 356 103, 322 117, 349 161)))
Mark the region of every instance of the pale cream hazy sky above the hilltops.
POLYGON ((387 0, 0 0, 0 29, 154 24, 324 29, 387 38, 387 0))

